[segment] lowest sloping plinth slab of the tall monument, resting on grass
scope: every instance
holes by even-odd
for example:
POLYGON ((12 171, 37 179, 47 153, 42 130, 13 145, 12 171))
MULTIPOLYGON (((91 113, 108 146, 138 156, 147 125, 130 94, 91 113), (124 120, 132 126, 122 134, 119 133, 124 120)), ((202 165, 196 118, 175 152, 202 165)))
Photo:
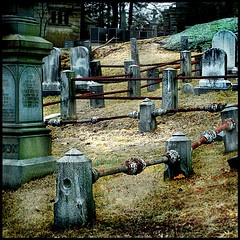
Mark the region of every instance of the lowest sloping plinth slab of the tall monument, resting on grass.
POLYGON ((24 160, 3 159, 2 186, 18 189, 30 180, 53 173, 56 170, 56 160, 52 156, 24 160))

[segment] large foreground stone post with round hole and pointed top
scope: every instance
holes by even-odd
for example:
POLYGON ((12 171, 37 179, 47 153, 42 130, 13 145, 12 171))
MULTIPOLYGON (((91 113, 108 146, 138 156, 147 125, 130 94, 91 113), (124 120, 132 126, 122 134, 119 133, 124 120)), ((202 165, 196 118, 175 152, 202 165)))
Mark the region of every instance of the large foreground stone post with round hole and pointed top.
POLYGON ((54 225, 82 227, 94 218, 92 161, 77 149, 71 149, 56 164, 54 225))

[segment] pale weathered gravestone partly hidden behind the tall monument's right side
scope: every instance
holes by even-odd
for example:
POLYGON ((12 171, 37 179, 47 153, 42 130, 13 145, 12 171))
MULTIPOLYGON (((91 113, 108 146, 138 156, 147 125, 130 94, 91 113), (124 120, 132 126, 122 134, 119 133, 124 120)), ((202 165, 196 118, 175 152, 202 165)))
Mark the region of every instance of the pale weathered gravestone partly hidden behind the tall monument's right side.
POLYGON ((43 58, 43 96, 60 94, 61 51, 53 47, 50 55, 43 58))

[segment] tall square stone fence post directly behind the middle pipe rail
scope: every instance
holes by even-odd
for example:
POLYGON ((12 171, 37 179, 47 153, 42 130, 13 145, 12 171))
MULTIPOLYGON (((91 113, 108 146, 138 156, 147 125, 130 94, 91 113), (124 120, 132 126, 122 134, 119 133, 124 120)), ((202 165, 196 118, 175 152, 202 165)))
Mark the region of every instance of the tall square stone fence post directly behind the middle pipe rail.
POLYGON ((173 109, 178 107, 178 80, 177 70, 166 68, 162 73, 162 108, 173 109))

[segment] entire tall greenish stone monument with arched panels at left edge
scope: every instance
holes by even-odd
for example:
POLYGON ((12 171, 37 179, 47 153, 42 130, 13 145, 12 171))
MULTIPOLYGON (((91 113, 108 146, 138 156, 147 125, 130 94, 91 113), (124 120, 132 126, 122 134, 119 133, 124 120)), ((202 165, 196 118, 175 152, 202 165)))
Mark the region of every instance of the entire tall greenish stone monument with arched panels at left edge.
POLYGON ((42 59, 53 45, 39 37, 29 2, 6 3, 2 29, 2 184, 19 188, 56 167, 42 103, 42 59))

